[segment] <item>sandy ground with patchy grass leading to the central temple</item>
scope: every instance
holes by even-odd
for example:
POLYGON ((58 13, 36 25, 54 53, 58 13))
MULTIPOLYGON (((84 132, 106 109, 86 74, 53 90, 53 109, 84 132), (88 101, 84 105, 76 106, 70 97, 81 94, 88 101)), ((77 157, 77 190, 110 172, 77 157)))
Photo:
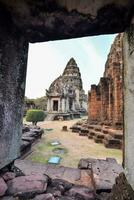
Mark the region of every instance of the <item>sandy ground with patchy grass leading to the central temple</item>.
POLYGON ((70 121, 44 121, 38 125, 45 129, 41 141, 33 146, 32 153, 26 158, 35 162, 47 163, 50 156, 58 155, 61 157, 60 165, 66 167, 77 167, 81 158, 116 158, 118 163, 122 163, 122 151, 108 149, 103 144, 96 144, 87 137, 72 133, 69 129, 78 119, 70 121), (68 131, 62 131, 66 125, 68 131), (46 130, 47 129, 47 130, 46 130), (53 129, 53 130, 50 130, 53 129), (50 142, 58 140, 60 145, 52 146, 50 142), (61 147, 65 150, 63 154, 57 154, 53 150, 61 147))

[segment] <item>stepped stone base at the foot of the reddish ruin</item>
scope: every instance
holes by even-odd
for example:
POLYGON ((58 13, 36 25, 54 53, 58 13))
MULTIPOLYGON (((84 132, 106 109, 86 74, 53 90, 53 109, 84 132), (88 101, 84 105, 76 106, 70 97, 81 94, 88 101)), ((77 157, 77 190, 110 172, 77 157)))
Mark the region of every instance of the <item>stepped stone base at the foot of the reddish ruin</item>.
POLYGON ((86 120, 81 120, 74 124, 72 132, 79 133, 80 136, 87 136, 95 143, 103 143, 106 148, 121 149, 123 142, 123 131, 113 129, 110 126, 88 124, 86 120))

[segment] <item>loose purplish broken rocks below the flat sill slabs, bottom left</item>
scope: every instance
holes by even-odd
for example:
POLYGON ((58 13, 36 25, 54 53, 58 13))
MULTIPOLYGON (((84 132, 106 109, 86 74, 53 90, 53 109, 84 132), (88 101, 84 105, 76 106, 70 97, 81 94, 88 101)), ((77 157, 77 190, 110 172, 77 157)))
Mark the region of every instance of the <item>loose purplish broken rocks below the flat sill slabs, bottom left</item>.
POLYGON ((74 185, 61 179, 50 179, 45 174, 17 176, 13 172, 6 172, 0 178, 0 199, 95 200, 96 198, 86 186, 74 185))

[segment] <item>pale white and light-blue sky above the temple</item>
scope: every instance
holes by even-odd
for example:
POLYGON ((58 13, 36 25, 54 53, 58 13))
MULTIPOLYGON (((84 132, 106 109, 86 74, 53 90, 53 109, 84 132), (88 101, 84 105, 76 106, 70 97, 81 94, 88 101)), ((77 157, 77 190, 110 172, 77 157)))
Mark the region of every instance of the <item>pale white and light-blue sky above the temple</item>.
POLYGON ((116 35, 85 37, 30 44, 26 80, 26 96, 45 95, 54 79, 63 73, 71 57, 80 68, 85 92, 103 75, 111 44, 116 35))

